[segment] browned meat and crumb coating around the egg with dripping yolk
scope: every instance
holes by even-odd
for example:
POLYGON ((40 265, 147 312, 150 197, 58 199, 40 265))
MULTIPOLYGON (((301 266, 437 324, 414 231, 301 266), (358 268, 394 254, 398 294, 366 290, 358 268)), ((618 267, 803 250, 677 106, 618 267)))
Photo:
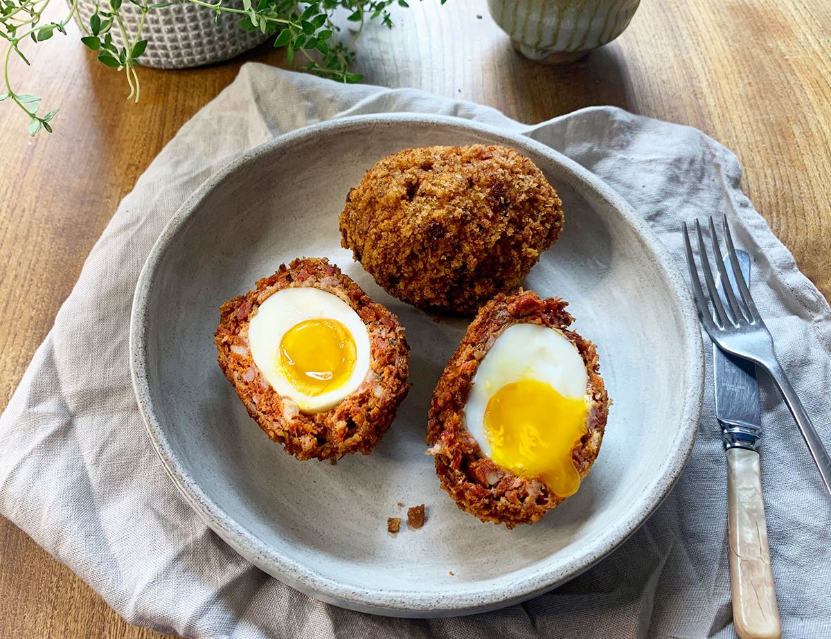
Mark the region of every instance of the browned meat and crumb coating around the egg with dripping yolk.
POLYGON ((548 510, 563 501, 537 479, 519 477, 495 465, 482 454, 463 424, 465 404, 479 362, 510 325, 524 322, 557 328, 577 347, 588 372, 587 394, 593 399, 588 432, 572 451, 572 461, 581 478, 597 458, 609 399, 600 377, 594 344, 568 330, 573 318, 565 311, 567 304, 559 297, 540 299, 532 291, 494 297, 479 309, 435 387, 427 424, 427 444, 431 448, 427 452, 435 456, 435 472, 441 487, 460 509, 482 521, 514 528, 518 523, 542 519, 548 510))

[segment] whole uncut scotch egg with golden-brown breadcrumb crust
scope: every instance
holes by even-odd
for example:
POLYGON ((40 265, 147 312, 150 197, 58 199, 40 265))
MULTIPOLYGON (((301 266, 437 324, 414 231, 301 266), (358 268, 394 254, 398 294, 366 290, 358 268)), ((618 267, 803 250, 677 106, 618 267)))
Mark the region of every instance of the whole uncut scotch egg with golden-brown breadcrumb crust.
POLYGON ((504 146, 389 155, 351 189, 342 246, 387 292, 470 314, 514 292, 563 230, 562 203, 534 163, 504 146))

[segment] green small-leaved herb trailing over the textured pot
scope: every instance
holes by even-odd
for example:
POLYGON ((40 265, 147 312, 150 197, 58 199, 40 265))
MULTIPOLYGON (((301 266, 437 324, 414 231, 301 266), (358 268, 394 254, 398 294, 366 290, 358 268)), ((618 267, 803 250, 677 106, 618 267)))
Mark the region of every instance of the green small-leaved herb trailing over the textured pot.
MULTIPOLYGON (((0 93, 0 101, 10 99, 26 114, 29 135, 36 135, 41 129, 52 133, 51 122, 58 110, 52 109, 45 116, 39 116, 40 97, 12 90, 8 72, 9 59, 14 52, 28 66, 30 63, 20 50, 22 42, 27 38, 32 42, 43 42, 56 31, 66 35, 66 24, 75 16, 78 0, 72 0, 69 13, 61 22, 41 24, 42 13, 49 2, 52 0, 0 0, 0 37, 7 41, 2 55, 5 91, 0 93)), ((92 13, 88 25, 78 21, 84 33, 81 42, 96 52, 102 64, 125 72, 130 87, 127 99, 138 102, 140 84, 136 67, 140 66, 139 58, 147 48, 147 40, 141 38, 145 18, 151 11, 159 11, 176 2, 128 0, 139 7, 141 12, 139 26, 132 37, 127 33, 120 16, 122 0, 103 2, 106 2, 106 6, 96 3, 96 11, 92 13), (114 28, 120 32, 121 41, 125 42, 122 47, 116 47, 113 42, 114 28)), ((352 73, 350 68, 355 60, 355 42, 361 35, 364 23, 380 19, 386 27, 391 28, 393 23, 389 7, 409 6, 406 0, 243 0, 242 8, 225 7, 224 0, 177 2, 191 2, 212 10, 218 25, 223 17, 235 17, 244 31, 259 31, 274 38, 274 47, 285 47, 289 65, 341 82, 361 81, 361 74, 352 73), (333 22, 338 10, 346 11, 347 20, 357 25, 348 43, 333 37, 340 31, 340 27, 333 22)), ((446 0, 441 0, 442 4, 445 2, 446 0)))

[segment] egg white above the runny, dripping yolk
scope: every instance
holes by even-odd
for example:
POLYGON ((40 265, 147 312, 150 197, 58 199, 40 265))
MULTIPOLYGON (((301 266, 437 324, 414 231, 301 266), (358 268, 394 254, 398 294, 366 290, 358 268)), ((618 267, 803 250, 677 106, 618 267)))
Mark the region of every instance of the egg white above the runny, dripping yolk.
POLYGON ((465 405, 465 428, 484 455, 493 454, 484 427, 490 398, 507 384, 529 379, 547 383, 563 397, 590 399, 586 364, 562 332, 538 324, 509 326, 479 362, 465 405))

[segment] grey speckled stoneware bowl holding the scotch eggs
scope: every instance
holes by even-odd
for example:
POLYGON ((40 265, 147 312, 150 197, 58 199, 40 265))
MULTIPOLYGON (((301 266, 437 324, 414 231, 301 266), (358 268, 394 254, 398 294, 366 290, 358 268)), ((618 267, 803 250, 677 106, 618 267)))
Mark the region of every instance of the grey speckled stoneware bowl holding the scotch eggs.
MULTIPOLYGON (((312 597, 435 617, 519 602, 573 578, 629 536, 681 473, 701 400, 701 337, 675 264, 640 217, 586 170, 520 135, 467 120, 390 114, 284 135, 209 179, 161 234, 135 292, 133 381, 150 440, 184 498, 238 553, 312 597), (614 399, 578 494, 508 530, 456 508, 425 455, 430 395, 465 322, 386 295, 340 248, 347 189, 411 146, 509 145, 563 199, 562 238, 527 287, 571 302, 614 399), (401 318, 412 389, 370 456, 301 462, 271 443, 216 364, 219 304, 298 255, 327 256, 401 318), (386 532, 396 505, 424 528, 386 532)), ((406 515, 403 515, 406 516, 406 515)))

